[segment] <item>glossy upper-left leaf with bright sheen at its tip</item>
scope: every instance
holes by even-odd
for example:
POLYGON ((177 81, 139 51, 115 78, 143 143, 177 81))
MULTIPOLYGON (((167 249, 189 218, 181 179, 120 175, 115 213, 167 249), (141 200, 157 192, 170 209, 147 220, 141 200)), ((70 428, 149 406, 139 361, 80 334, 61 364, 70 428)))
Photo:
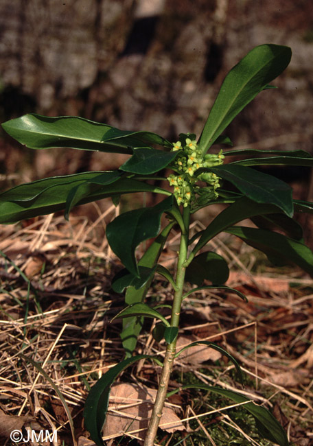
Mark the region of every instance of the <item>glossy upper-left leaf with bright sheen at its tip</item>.
POLYGON ((100 152, 131 154, 132 148, 147 143, 172 148, 172 144, 152 132, 129 132, 106 124, 73 116, 24 115, 2 124, 5 132, 31 149, 68 147, 100 152))

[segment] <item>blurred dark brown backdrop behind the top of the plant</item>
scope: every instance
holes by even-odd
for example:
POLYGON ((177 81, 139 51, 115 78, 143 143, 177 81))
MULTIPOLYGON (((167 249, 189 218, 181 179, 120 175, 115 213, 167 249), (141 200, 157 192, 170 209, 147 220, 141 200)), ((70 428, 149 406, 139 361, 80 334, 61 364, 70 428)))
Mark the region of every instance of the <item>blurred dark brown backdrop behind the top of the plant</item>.
MULTIPOLYGON (((309 0, 0 0, 0 119, 78 115, 176 141, 199 136, 229 69, 263 43, 292 62, 233 121, 235 147, 313 153, 309 0)), ((0 189, 46 175, 110 169, 116 154, 22 148, 0 134, 0 189)), ((313 200, 310 169, 278 168, 313 200)))

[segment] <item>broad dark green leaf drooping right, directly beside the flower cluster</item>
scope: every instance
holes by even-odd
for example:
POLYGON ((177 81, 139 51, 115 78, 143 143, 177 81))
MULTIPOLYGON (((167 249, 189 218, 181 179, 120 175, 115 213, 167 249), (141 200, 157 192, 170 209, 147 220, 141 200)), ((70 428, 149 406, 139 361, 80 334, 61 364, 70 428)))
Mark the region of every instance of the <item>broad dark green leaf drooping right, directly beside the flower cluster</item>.
POLYGON ((292 188, 278 178, 242 165, 221 165, 208 170, 230 181, 251 200, 275 204, 292 217, 292 188))

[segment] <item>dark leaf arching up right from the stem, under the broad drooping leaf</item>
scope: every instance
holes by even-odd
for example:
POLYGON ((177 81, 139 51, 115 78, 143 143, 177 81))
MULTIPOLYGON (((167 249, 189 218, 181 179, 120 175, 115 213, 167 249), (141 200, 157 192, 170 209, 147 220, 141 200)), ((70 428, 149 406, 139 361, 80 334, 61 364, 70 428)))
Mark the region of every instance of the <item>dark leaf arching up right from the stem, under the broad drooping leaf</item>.
POLYGON ((202 231, 198 243, 192 250, 192 255, 198 253, 198 250, 203 248, 209 240, 229 226, 233 226, 233 224, 241 222, 246 218, 251 218, 254 215, 275 213, 275 211, 277 211, 277 207, 273 206, 273 204, 257 203, 247 197, 239 198, 229 207, 224 209, 224 211, 219 213, 209 226, 207 226, 205 231, 202 231))

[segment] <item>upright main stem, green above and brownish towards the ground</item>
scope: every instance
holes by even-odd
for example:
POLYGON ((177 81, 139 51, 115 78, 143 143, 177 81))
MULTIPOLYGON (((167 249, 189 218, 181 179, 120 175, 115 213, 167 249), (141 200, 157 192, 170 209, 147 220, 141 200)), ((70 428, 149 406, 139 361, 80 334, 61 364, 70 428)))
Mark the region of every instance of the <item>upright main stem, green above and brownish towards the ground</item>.
MULTIPOLYGON (((179 316, 181 314, 181 301, 183 297, 183 288, 185 283, 185 268, 183 263, 187 259, 188 254, 188 240, 189 240, 189 218, 190 208, 183 208, 183 222, 185 228, 181 231, 181 244, 179 246, 178 260, 177 260, 177 272, 176 272, 176 292, 174 293, 174 301, 172 305, 172 317, 171 327, 178 327, 179 316)), ((167 344, 165 357, 163 361, 163 368, 160 376, 159 388, 156 393, 156 399, 154 401, 154 407, 148 426, 146 439, 144 446, 153 446, 154 438, 159 427, 160 419, 162 416, 162 410, 165 403, 167 394, 168 383, 170 382, 170 375, 172 372, 174 355, 176 353, 176 339, 167 344)))

